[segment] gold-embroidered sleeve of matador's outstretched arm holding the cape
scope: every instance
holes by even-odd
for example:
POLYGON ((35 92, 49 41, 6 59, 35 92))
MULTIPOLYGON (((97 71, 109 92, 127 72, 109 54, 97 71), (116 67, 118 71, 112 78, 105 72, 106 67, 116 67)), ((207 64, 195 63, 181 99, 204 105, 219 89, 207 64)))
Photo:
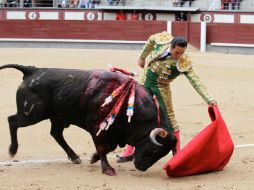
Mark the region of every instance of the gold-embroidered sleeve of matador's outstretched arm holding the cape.
POLYGON ((197 74, 191 68, 188 72, 184 73, 191 85, 198 92, 198 94, 203 98, 203 100, 209 104, 211 101, 214 101, 213 97, 209 95, 207 88, 200 81, 197 74))

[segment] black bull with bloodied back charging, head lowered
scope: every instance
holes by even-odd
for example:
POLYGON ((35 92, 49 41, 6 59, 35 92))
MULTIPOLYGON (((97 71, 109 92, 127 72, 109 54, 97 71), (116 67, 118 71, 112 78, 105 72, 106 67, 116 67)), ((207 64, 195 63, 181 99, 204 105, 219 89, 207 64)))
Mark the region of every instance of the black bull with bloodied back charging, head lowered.
POLYGON ((102 70, 36 68, 14 64, 4 65, 0 70, 4 68, 15 68, 24 74, 16 94, 17 113, 8 117, 11 135, 9 153, 12 157, 18 150, 17 129, 45 119, 51 122, 50 134, 73 163, 81 163, 81 160, 66 143, 63 130, 72 124, 88 131, 96 147, 91 163, 101 160, 102 172, 107 175, 115 175, 115 170, 109 165, 106 155, 118 145, 135 146, 134 165, 138 170, 146 171, 176 144, 175 136, 167 131, 165 114, 160 114, 158 128, 156 104, 152 95, 139 84, 135 87, 131 122, 127 121, 125 102, 112 126, 96 136, 99 130, 96 124, 101 119, 98 110, 105 98, 129 79, 126 75, 102 70))

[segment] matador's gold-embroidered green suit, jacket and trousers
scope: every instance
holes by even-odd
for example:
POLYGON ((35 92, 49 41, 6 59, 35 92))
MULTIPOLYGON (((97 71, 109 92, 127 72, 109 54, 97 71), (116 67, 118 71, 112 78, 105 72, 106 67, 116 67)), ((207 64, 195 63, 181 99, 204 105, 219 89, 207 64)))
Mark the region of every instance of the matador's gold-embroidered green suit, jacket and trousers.
POLYGON ((161 59, 170 48, 172 39, 168 32, 154 34, 148 39, 140 55, 146 59, 147 64, 141 83, 157 97, 163 113, 169 119, 169 130, 176 132, 179 125, 175 119, 170 90, 170 83, 176 77, 184 74, 207 104, 214 99, 193 71, 192 61, 187 54, 182 55, 179 60, 174 60, 171 56, 161 59))

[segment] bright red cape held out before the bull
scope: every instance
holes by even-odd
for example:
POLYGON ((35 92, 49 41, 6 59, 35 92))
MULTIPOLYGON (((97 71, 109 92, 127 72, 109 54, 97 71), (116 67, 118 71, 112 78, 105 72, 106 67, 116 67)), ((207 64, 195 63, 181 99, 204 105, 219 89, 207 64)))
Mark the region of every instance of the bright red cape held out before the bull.
POLYGON ((168 176, 187 176, 222 170, 234 144, 217 106, 209 107, 212 123, 196 135, 163 167, 168 176))

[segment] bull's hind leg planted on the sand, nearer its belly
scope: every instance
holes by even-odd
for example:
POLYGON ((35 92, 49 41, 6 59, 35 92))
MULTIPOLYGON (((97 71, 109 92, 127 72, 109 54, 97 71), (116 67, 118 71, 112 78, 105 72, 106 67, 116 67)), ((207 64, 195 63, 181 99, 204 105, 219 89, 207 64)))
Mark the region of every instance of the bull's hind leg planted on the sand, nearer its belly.
POLYGON ((63 137, 63 130, 65 128, 65 125, 62 121, 57 119, 50 119, 51 121, 51 131, 50 134, 56 142, 64 149, 66 154, 68 155, 68 158, 74 163, 74 164, 80 164, 81 159, 79 156, 69 147, 67 142, 65 141, 63 137))

